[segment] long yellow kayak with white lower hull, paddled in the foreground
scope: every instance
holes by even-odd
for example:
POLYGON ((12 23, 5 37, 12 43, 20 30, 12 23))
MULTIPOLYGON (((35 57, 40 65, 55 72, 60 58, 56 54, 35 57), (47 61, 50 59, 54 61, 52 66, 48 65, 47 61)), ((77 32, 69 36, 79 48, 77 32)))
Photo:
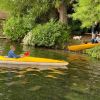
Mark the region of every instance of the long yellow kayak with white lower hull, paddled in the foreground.
POLYGON ((54 60, 47 58, 38 58, 38 57, 22 57, 22 58, 7 58, 4 56, 0 56, 0 66, 4 65, 49 65, 49 66, 66 66, 68 62, 63 60, 54 60))

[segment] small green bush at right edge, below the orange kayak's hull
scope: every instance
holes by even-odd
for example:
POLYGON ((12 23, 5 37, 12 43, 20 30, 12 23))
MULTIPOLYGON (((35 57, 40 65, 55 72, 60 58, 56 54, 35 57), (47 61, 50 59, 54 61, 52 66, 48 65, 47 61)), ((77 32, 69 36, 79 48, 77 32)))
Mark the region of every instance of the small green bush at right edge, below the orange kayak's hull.
POLYGON ((91 48, 91 49, 86 49, 84 52, 86 54, 92 56, 93 58, 100 59, 100 46, 96 46, 96 47, 91 48))

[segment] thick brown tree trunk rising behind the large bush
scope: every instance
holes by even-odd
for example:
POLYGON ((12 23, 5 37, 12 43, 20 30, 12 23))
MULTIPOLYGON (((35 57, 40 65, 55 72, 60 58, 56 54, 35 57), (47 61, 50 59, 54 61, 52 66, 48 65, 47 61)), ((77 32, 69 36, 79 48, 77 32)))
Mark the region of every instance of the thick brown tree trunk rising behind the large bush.
POLYGON ((62 4, 59 6, 58 13, 59 13, 59 21, 63 24, 67 24, 67 9, 64 2, 62 2, 62 4))

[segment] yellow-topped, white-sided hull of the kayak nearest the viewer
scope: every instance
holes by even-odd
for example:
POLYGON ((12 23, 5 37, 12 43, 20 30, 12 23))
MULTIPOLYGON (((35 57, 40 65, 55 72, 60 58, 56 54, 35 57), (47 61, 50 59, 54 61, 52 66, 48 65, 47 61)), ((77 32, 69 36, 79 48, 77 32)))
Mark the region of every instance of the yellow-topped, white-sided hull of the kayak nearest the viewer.
POLYGON ((7 58, 0 56, 0 67, 36 67, 39 69, 47 68, 66 68, 68 62, 38 58, 38 57, 23 57, 23 58, 7 58))

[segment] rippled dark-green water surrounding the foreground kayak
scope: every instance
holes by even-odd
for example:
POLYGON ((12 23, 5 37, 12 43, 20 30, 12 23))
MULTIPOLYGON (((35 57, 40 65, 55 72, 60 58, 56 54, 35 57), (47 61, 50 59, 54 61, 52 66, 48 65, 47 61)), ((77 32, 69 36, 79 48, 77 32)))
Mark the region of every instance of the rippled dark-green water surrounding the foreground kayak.
MULTIPOLYGON (((6 55, 7 41, 0 41, 6 55)), ((63 59, 68 69, 0 68, 0 100, 100 100, 100 61, 67 51, 35 49, 16 44, 16 53, 63 59)))

